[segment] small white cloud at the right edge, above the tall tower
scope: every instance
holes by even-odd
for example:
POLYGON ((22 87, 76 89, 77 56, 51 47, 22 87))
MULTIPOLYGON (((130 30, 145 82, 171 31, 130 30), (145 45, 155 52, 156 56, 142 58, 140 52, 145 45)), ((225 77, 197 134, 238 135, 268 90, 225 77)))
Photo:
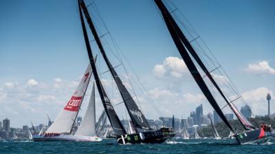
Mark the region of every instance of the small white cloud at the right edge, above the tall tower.
POLYGON ((245 68, 245 72, 259 75, 274 75, 275 69, 270 67, 267 61, 262 61, 260 63, 248 64, 245 68))

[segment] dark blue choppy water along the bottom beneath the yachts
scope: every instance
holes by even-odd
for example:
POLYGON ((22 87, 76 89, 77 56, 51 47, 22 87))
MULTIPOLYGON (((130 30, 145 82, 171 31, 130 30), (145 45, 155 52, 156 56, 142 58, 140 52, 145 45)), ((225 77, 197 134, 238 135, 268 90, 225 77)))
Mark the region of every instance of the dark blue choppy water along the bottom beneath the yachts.
POLYGON ((32 142, 2 140, 0 153, 275 153, 275 141, 265 144, 237 145, 234 140, 174 140, 163 144, 115 144, 102 142, 32 142))

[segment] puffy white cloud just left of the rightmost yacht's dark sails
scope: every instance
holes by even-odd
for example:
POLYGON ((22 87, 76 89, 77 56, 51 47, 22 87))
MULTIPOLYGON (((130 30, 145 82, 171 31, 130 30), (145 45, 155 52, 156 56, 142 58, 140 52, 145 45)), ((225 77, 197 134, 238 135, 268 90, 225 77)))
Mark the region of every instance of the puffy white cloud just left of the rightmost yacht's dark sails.
POLYGON ((157 78, 181 78, 188 69, 181 58, 169 56, 160 65, 155 65, 153 74, 157 78))

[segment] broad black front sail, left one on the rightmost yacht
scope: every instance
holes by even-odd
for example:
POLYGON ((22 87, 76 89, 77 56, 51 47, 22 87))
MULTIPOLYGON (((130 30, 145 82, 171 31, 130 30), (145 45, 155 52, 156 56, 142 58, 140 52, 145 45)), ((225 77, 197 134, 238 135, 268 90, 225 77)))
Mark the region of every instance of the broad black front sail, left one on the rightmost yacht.
POLYGON ((162 17, 164 18, 164 21, 170 32, 170 35, 175 45, 177 46, 177 50, 179 50, 179 54, 181 54, 181 57, 183 58, 184 63, 186 63, 186 66, 188 67, 189 72, 192 74, 192 77, 195 79, 197 85, 199 85, 199 88, 203 92, 204 96, 206 96, 208 102, 210 102, 214 110, 217 111, 218 115, 223 120, 223 122, 225 122, 225 124, 228 126, 229 129, 231 129, 233 132, 236 132, 234 131, 234 129, 232 128, 228 120, 225 118, 225 115, 219 108, 219 105, 217 104, 216 100, 210 93, 210 90, 208 89, 206 83, 204 83, 203 78, 201 77, 201 74, 199 74, 199 71, 197 70, 197 67, 192 62, 192 59, 190 58, 186 48, 182 44, 179 34, 177 33, 177 30, 175 28, 177 24, 172 22, 173 17, 170 16, 170 13, 168 12, 167 8, 165 7, 164 3, 162 3, 161 0, 155 0, 155 3, 157 4, 157 7, 159 8, 160 12, 162 12, 162 17))

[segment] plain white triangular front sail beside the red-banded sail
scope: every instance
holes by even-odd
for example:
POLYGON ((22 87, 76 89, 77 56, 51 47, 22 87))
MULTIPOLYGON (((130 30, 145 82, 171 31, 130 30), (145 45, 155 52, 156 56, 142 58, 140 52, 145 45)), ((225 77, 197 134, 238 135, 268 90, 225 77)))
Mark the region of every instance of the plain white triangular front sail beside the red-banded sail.
POLYGON ((95 136, 96 135, 96 107, 95 107, 95 85, 91 90, 91 98, 89 100, 87 111, 84 115, 75 135, 95 136))

